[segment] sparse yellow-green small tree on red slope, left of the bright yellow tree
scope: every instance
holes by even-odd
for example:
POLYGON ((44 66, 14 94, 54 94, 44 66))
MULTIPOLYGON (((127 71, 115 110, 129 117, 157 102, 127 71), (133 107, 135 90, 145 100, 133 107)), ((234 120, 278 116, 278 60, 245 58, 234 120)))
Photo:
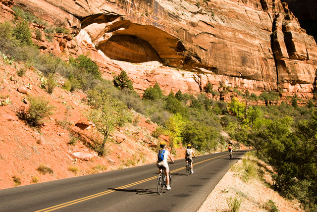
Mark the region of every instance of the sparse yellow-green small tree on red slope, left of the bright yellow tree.
POLYGON ((99 101, 100 107, 92 109, 87 117, 95 124, 96 129, 103 136, 102 140, 93 141, 93 148, 98 152, 99 156, 104 156, 105 145, 110 133, 115 130, 115 127, 123 126, 132 118, 127 107, 119 100, 102 93, 99 101))

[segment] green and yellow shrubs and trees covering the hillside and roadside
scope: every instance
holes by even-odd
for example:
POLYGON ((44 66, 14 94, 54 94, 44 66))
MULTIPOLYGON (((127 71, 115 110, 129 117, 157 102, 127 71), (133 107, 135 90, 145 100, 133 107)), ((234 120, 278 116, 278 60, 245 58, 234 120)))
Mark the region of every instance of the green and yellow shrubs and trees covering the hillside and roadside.
MULTIPOLYGON (((270 102, 279 100, 279 91, 263 92, 257 96, 248 90, 230 88, 223 82, 219 82, 217 90, 210 82, 207 83, 204 92, 197 96, 180 90, 165 94, 156 83, 140 97, 125 71, 113 76, 113 81, 104 80, 98 65, 88 55, 64 61, 51 54, 41 54, 32 43, 28 27, 28 21, 39 20, 26 18, 29 16, 16 11, 13 21, 0 23, 1 56, 8 64, 19 60, 25 63, 25 68, 34 67, 40 72, 42 88, 49 94, 57 86, 58 77, 64 79, 63 89, 87 93, 87 104, 92 109, 86 116, 96 125, 96 133, 102 135, 92 138, 88 146, 99 156, 106 155, 109 134, 116 127, 133 122, 131 110, 134 110, 159 125, 153 136, 168 135, 172 150, 190 143, 201 154, 211 153, 225 150, 232 140, 253 146, 256 156, 274 169, 272 187, 284 197, 298 199, 304 209, 317 211, 315 100, 299 106, 298 102, 303 103, 304 100, 294 96, 278 105, 271 105, 270 102), (230 102, 210 98, 224 94, 232 94, 230 102), (265 105, 258 105, 258 101, 263 101, 265 105), (221 132, 226 132, 229 137, 224 137, 221 132)), ((18 75, 23 76, 24 73, 21 69, 18 75)), ((31 107, 25 119, 30 125, 39 126, 44 118, 52 114, 53 107, 40 97, 30 97, 29 101, 31 107)), ((72 143, 74 141, 69 144, 72 143)), ((38 171, 53 173, 43 164, 38 171)), ((78 170, 70 168, 70 171, 78 170)), ((250 166, 245 180, 253 171, 250 166)), ((237 207, 239 202, 233 199, 231 203, 232 207, 237 207)))

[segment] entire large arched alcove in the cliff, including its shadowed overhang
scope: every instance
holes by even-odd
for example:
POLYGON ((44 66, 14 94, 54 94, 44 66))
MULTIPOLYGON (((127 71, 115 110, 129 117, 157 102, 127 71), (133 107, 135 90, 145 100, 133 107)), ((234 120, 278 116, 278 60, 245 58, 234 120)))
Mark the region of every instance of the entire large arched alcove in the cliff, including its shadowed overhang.
POLYGON ((99 14, 84 18, 82 28, 89 33, 96 49, 111 59, 133 63, 159 61, 175 67, 184 63, 183 44, 153 25, 99 14))

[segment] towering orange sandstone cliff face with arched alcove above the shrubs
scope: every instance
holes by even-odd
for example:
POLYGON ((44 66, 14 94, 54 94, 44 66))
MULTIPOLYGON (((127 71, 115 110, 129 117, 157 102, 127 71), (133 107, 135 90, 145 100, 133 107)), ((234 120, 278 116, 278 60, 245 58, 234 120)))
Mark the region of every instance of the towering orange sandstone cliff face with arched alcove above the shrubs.
POLYGON ((158 81, 169 90, 199 92, 208 81, 216 87, 221 80, 240 89, 281 89, 304 97, 314 90, 316 42, 280 0, 15 2, 69 28, 86 48, 67 52, 59 42, 60 50, 91 52, 104 77, 112 79, 111 72, 120 70, 109 58, 176 68, 126 70, 138 90, 158 81))

